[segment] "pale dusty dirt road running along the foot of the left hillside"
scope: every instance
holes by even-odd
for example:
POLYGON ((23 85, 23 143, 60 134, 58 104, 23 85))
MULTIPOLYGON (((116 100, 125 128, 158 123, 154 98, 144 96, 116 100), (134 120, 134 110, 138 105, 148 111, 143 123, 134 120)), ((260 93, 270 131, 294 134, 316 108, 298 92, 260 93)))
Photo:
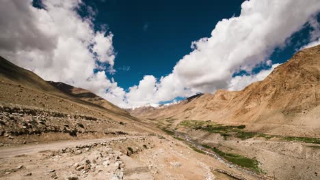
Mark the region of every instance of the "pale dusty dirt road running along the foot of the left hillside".
POLYGON ((140 136, 126 136, 126 137, 116 137, 116 138, 96 138, 96 139, 86 139, 86 140, 67 140, 60 142, 50 142, 47 144, 39 145, 26 145, 23 147, 10 147, 0 149, 0 158, 12 157, 16 155, 38 153, 40 151, 55 151, 66 147, 74 147, 77 145, 85 145, 94 142, 109 142, 113 140, 122 140, 126 138, 136 138, 140 136))

